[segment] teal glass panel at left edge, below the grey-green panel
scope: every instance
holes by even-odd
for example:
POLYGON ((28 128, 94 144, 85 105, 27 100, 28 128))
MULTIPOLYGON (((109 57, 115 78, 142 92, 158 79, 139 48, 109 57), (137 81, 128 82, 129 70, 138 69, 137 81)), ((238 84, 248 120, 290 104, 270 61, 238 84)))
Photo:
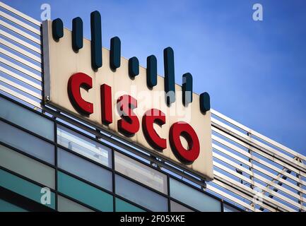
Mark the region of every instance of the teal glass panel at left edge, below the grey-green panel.
MULTIPOLYGON (((42 187, 28 182, 25 179, 21 179, 20 177, 10 174, 2 169, 0 169, 0 186, 3 186, 8 190, 16 192, 21 196, 28 197, 33 201, 36 201, 37 203, 41 203, 41 198, 44 198, 43 195, 46 194, 45 191, 42 190, 42 187)), ((50 203, 45 204, 45 206, 54 208, 55 196, 53 192, 50 193, 49 201, 50 203)))

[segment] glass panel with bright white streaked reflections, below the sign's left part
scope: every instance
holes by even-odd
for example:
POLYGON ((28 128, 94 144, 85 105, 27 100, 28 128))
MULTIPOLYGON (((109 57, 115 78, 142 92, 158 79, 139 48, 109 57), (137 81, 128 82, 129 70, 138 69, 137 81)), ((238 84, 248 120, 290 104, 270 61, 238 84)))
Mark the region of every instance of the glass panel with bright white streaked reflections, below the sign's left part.
POLYGON ((57 143, 96 162, 112 167, 112 151, 110 148, 71 129, 59 125, 57 128, 57 143))

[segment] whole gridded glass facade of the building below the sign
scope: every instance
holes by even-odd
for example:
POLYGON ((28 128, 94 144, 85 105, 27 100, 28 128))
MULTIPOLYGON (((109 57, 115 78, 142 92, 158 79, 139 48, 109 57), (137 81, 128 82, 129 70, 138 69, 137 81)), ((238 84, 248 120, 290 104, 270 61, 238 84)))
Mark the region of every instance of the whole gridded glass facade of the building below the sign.
MULTIPOLYGON (((235 210, 175 179, 175 174, 63 120, 2 96, 0 103, 0 190, 25 198, 32 210, 189 212, 223 211, 222 206, 235 210)), ((28 209, 0 196, 0 211, 28 209)))

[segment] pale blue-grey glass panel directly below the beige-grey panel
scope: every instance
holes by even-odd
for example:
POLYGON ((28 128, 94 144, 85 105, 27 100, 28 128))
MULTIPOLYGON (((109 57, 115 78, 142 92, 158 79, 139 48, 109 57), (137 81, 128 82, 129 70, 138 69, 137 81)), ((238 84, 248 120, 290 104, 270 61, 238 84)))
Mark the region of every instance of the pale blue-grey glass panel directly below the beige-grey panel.
POLYGON ((153 211, 167 211, 167 198, 116 175, 116 194, 153 211))

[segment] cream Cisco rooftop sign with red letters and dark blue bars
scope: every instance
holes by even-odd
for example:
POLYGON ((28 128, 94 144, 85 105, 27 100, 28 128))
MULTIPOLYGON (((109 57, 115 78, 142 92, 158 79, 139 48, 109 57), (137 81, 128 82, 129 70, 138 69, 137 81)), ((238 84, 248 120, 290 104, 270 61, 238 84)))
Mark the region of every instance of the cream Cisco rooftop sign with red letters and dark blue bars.
POLYGON ((161 77, 155 56, 146 69, 121 57, 118 37, 102 48, 98 11, 90 15, 91 42, 81 18, 72 25, 71 32, 60 19, 43 23, 46 103, 213 179, 209 95, 192 92, 190 73, 175 84, 172 48, 164 49, 161 77))

